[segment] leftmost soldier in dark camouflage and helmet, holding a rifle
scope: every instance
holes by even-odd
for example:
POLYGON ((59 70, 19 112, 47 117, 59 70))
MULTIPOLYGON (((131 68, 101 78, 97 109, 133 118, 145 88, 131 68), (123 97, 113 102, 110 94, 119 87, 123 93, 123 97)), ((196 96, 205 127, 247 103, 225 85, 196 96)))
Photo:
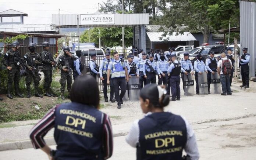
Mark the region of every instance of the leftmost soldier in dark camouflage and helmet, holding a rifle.
POLYGON ((12 84, 14 81, 15 94, 18 97, 23 98, 23 95, 19 93, 19 78, 20 72, 19 68, 22 68, 22 59, 19 54, 19 43, 14 41, 11 44, 11 50, 8 50, 3 58, 3 64, 8 69, 8 84, 7 84, 7 97, 13 99, 11 95, 12 84))

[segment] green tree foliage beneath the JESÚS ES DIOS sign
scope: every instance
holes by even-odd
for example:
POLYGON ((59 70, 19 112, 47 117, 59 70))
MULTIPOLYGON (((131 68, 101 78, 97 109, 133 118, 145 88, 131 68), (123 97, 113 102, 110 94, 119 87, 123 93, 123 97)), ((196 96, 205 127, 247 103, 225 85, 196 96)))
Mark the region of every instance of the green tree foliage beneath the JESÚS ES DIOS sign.
MULTIPOLYGON (((125 46, 132 46, 133 32, 131 27, 124 29, 125 46)), ((99 37, 101 47, 116 47, 122 46, 122 28, 93 28, 90 29, 90 42, 99 46, 99 37), (99 34, 100 31, 100 34, 99 34)), ((89 30, 86 30, 80 38, 81 42, 89 42, 89 30)))

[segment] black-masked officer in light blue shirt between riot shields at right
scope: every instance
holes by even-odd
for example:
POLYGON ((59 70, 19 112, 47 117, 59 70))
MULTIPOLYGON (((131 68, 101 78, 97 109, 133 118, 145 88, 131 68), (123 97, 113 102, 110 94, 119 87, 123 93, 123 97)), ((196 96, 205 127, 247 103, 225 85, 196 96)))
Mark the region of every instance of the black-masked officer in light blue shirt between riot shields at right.
POLYGON ((195 79, 196 79, 196 94, 199 94, 199 86, 198 86, 198 74, 203 74, 203 72, 208 73, 205 63, 202 60, 202 56, 201 54, 196 55, 196 57, 198 58, 195 62, 194 62, 194 68, 195 68, 195 79))

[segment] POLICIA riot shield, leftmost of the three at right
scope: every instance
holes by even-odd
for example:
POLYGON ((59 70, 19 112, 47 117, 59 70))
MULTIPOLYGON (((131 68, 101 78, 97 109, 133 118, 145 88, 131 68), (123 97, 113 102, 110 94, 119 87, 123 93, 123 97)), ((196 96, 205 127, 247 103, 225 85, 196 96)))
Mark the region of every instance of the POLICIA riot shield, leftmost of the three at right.
POLYGON ((187 96, 195 95, 194 77, 191 73, 188 73, 188 75, 184 74, 184 92, 187 96))

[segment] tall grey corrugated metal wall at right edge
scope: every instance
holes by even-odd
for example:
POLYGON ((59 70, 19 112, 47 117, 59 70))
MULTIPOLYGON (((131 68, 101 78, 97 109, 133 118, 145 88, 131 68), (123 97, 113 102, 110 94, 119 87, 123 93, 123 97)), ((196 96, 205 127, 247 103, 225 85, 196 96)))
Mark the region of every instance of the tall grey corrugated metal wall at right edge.
POLYGON ((240 1, 240 42, 242 48, 248 48, 250 54, 250 76, 254 77, 256 68, 256 3, 240 1))

